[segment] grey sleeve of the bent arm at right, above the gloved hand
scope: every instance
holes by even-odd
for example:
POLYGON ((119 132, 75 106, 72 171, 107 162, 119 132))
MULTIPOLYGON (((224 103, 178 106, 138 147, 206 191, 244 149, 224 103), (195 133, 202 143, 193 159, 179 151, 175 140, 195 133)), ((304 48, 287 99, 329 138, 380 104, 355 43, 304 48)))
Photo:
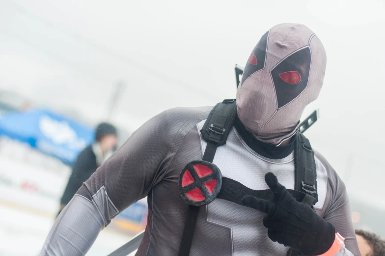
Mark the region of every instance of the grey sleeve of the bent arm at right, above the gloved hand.
POLYGON ((327 192, 327 210, 324 215, 324 220, 330 222, 335 231, 345 238, 343 247, 338 256, 354 255, 360 256, 356 239, 356 232, 353 227, 351 207, 349 203, 348 193, 345 184, 326 161, 326 159, 316 152, 316 156, 321 160, 322 164, 328 171, 328 192, 327 192), (351 254, 350 254, 351 253, 351 254))

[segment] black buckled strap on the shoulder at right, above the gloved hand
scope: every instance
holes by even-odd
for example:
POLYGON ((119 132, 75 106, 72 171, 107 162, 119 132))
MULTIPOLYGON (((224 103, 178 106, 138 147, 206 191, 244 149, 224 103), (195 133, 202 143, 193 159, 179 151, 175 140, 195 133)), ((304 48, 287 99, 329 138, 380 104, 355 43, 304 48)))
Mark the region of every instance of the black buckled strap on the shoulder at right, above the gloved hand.
POLYGON ((317 171, 315 167, 314 151, 309 140, 298 132, 295 147, 295 182, 294 189, 305 193, 302 202, 311 207, 318 202, 317 171))

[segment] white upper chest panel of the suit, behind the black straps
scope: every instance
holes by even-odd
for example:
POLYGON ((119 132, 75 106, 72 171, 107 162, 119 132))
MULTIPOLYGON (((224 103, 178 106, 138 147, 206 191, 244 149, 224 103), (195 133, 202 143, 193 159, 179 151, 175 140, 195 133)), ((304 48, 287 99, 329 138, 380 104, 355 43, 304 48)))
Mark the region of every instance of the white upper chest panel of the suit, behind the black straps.
MULTIPOLYGON (((198 123, 202 129, 206 120, 198 123)), ((201 138, 202 153, 207 142, 201 138)), ((265 174, 273 172, 278 182, 287 189, 294 189, 294 152, 283 159, 269 159, 249 148, 233 127, 226 144, 218 147, 214 157, 216 164, 224 177, 236 180, 253 190, 269 189, 265 182, 265 174)), ((316 158, 318 202, 316 209, 324 205, 327 192, 327 172, 322 163, 316 158)))

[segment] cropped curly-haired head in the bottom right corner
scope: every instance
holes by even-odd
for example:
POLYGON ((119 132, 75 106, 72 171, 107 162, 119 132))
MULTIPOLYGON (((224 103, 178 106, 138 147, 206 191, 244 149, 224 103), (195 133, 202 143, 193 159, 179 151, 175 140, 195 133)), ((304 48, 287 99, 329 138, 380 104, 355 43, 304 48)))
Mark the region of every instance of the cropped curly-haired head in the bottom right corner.
POLYGON ((356 230, 358 249, 361 256, 384 256, 385 240, 375 233, 356 230))

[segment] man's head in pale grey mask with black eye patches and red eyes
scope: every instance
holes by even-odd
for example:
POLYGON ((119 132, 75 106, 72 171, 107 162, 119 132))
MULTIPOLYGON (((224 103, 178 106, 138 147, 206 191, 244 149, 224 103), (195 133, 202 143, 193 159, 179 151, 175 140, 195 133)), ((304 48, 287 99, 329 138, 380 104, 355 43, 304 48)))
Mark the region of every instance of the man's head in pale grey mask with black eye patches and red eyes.
POLYGON ((258 140, 279 145, 317 99, 325 69, 326 52, 313 31, 289 23, 271 28, 247 60, 237 90, 239 119, 258 140))

